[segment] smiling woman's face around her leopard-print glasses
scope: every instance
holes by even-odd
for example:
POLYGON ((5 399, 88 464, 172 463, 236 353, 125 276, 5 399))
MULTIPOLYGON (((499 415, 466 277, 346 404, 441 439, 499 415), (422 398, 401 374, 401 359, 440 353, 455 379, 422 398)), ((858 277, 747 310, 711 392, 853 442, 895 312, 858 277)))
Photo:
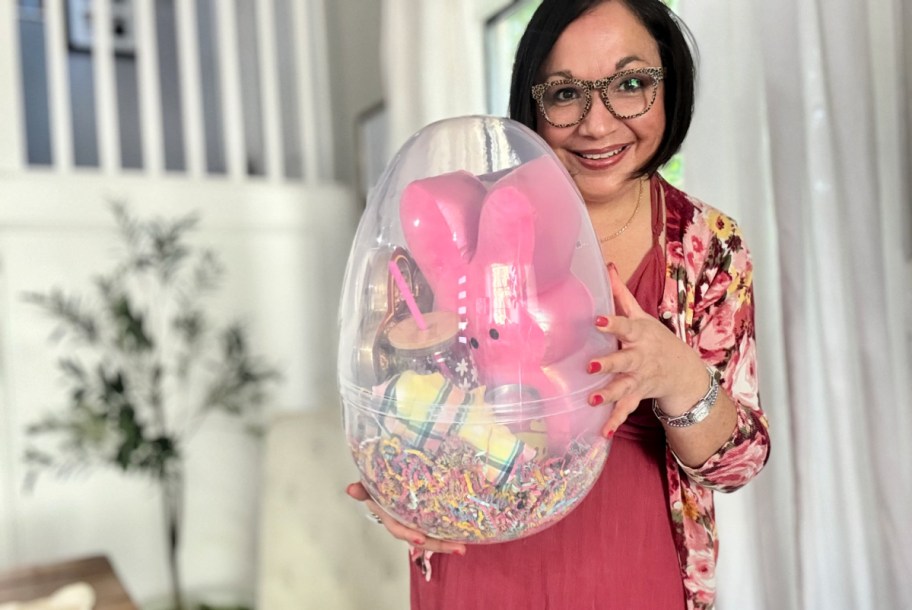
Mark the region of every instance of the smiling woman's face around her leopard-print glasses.
MULTIPOLYGON (((603 2, 563 31, 537 82, 597 80, 627 68, 661 67, 658 45, 630 10, 603 2)), ((554 127, 539 112, 538 133, 573 176, 587 204, 625 196, 631 174, 656 152, 665 131, 662 83, 652 108, 635 119, 617 119, 597 91, 582 122, 554 127)))

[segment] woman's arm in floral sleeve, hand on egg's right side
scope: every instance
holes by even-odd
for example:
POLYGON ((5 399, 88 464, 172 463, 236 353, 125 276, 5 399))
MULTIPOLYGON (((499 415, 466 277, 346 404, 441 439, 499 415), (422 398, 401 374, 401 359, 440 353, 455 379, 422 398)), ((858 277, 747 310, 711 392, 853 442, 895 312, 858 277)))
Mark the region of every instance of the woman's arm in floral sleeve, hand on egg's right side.
MULTIPOLYGON (((735 264, 734 257, 728 260, 735 264)), ((596 368, 615 373, 615 377, 595 394, 599 398, 593 402, 616 401, 605 427, 607 436, 643 398, 654 398, 667 415, 680 415, 705 395, 709 365, 721 377, 709 415, 686 428, 666 425, 666 435, 688 476, 701 485, 731 491, 765 464, 769 433, 757 392, 750 274, 738 269, 722 271, 706 287, 706 294, 719 297, 708 299, 711 306, 700 310, 696 326, 701 332, 696 333, 691 347, 646 314, 617 270, 609 266, 620 315, 601 317, 597 326, 617 336, 621 349, 596 359, 596 368), (741 278, 736 285, 731 284, 733 277, 741 278)))

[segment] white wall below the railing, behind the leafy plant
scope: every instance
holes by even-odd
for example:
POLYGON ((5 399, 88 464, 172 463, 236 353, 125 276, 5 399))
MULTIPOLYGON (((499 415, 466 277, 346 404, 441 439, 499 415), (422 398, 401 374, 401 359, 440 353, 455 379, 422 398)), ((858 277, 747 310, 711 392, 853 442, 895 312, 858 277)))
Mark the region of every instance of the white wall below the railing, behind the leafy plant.
MULTIPOLYGON (((337 400, 337 295, 357 206, 349 189, 332 185, 0 172, 0 569, 106 553, 128 590, 147 600, 167 588, 153 486, 94 471, 44 477, 30 494, 22 487, 25 426, 64 403, 52 326, 22 293, 90 292, 117 239, 108 197, 143 216, 200 212, 195 239, 216 248, 227 268, 211 313, 247 320, 254 351, 284 373, 271 401, 277 412, 337 400)), ((188 590, 238 589, 253 599, 259 452, 227 418, 209 421, 187 446, 188 590)))

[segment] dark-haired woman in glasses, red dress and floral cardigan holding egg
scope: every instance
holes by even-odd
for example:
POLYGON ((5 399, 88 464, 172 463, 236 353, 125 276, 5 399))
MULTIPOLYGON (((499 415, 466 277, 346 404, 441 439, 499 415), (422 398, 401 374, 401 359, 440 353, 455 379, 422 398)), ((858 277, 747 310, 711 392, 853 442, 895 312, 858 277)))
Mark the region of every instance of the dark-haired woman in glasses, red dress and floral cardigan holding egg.
POLYGON ((616 402, 604 430, 614 440, 565 519, 468 552, 404 527, 351 485, 412 546, 414 609, 713 604, 712 493, 760 471, 769 435, 741 234, 657 173, 692 115, 683 32, 660 0, 545 0, 526 29, 510 113, 553 148, 600 236, 618 315, 595 324, 621 349, 588 364, 592 375, 613 374, 589 402, 616 402))

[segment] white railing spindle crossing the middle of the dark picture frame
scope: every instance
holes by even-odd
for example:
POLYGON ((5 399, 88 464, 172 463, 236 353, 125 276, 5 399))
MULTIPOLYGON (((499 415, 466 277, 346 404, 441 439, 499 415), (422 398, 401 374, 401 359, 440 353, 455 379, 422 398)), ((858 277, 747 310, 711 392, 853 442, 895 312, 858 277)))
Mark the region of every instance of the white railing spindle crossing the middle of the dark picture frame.
POLYGON ((95 76, 95 121, 98 127, 98 165, 104 173, 115 173, 121 167, 120 122, 110 23, 111 0, 93 0, 92 68, 95 76))

